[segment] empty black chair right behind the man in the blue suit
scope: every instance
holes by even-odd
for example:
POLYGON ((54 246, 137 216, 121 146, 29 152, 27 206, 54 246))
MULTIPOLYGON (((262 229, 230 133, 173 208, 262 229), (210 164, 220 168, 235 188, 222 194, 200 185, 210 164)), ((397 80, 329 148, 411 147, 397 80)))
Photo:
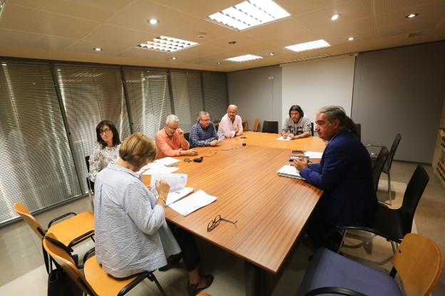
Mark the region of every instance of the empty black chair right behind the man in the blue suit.
POLYGON ((406 186, 400 208, 392 209, 379 203, 374 222, 370 223, 368 227, 347 226, 337 228, 337 230, 364 230, 380 235, 387 240, 391 240, 392 249, 395 252, 395 243, 400 243, 406 233, 411 233, 414 213, 416 213, 417 205, 428 182, 429 176, 426 170, 421 165, 417 165, 406 186))

